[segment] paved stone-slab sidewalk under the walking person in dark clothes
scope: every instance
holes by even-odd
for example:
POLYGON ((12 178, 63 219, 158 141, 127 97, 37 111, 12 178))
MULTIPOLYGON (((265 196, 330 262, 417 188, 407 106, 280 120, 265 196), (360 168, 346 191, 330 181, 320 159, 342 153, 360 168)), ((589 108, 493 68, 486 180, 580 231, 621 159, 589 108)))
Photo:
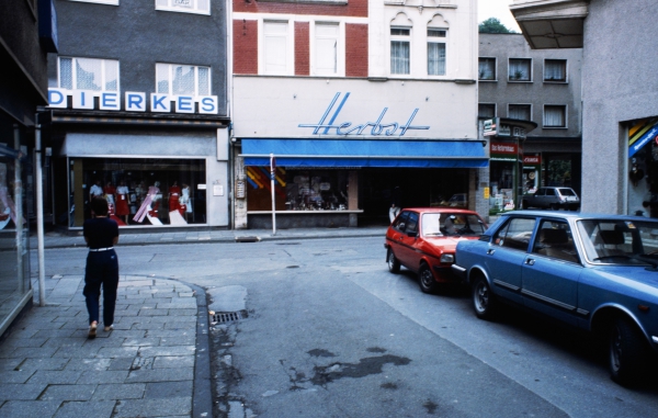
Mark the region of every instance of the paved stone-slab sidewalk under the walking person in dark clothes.
POLYGON ((122 275, 114 330, 89 340, 82 279, 49 279, 0 343, 0 417, 212 417, 203 290, 122 275))

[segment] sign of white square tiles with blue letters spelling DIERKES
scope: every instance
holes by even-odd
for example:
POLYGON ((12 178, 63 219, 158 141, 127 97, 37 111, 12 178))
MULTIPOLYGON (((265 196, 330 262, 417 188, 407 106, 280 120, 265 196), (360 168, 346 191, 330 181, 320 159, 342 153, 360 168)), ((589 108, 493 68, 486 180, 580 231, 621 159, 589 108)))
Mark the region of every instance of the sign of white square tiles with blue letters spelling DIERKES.
MULTIPOLYGON (((147 103, 147 93, 126 91, 124 93, 124 109, 127 112, 154 113, 198 113, 217 114, 219 112, 216 95, 169 95, 150 93, 150 103, 147 103), (150 106, 149 106, 150 104, 150 106)), ((54 109, 68 109, 68 98, 71 97, 72 109, 121 111, 121 93, 114 91, 66 90, 48 89, 48 106, 54 109)))

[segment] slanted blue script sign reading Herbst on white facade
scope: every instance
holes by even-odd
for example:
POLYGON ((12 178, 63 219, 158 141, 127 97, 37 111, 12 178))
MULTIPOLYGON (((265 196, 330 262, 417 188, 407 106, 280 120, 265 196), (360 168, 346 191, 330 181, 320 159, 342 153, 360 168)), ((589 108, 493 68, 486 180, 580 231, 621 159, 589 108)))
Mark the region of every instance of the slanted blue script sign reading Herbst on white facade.
MULTIPOLYGON (((430 128, 429 126, 411 125, 413 117, 416 117, 416 114, 418 113, 418 108, 416 108, 413 110, 413 112, 411 112, 411 116, 409 116, 409 120, 404 125, 400 125, 397 122, 382 123, 382 120, 384 118, 386 111, 388 111, 388 108, 384 108, 384 110, 379 114, 379 117, 377 117, 376 122, 366 122, 366 123, 362 123, 356 126, 352 126, 352 122, 336 123, 336 118, 338 117, 338 114, 340 113, 343 105, 348 101, 348 98, 350 97, 349 92, 345 93, 345 95, 341 100, 340 104, 336 109, 336 112, 333 112, 333 115, 331 115, 331 118, 329 120, 329 122, 325 123, 327 121, 327 117, 329 116, 329 112, 331 112, 331 110, 333 109, 333 105, 338 101, 338 98, 340 98, 340 94, 341 94, 340 92, 336 93, 336 95, 331 100, 331 103, 329 103, 329 106, 325 111, 325 114, 320 118, 320 122, 318 122, 317 124, 299 124, 298 126, 299 127, 313 127, 314 135, 328 135, 331 129, 336 129, 336 135, 361 135, 361 134, 363 134, 364 131, 366 131, 368 127, 371 127, 370 135, 373 135, 373 136, 379 136, 379 135, 393 136, 398 132, 398 129, 399 129, 398 135, 404 136, 407 133, 407 131, 410 131, 410 129, 424 131, 424 129, 430 128)), ((368 133, 366 133, 365 135, 367 135, 367 134, 368 133)))

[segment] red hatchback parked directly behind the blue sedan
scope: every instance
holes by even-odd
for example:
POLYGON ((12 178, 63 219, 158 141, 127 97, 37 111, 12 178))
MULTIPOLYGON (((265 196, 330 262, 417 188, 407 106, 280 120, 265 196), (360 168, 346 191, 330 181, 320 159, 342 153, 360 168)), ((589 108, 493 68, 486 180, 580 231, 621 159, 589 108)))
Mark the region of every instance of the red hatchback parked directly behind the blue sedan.
POLYGON ((386 230, 386 261, 392 273, 400 266, 418 273, 420 290, 434 293, 439 283, 455 282, 451 266, 455 247, 478 239, 487 224, 473 211, 450 207, 406 208, 386 230))

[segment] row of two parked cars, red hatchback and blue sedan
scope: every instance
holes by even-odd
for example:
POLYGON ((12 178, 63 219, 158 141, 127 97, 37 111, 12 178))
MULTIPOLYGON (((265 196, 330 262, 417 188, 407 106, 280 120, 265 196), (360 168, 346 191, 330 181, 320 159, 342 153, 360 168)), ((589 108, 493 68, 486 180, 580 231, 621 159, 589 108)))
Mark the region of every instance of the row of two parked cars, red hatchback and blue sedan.
POLYGON ((388 269, 418 273, 421 291, 470 287, 475 315, 500 304, 595 332, 612 379, 646 377, 658 351, 658 221, 515 211, 487 228, 477 213, 404 210, 386 233, 388 269))

